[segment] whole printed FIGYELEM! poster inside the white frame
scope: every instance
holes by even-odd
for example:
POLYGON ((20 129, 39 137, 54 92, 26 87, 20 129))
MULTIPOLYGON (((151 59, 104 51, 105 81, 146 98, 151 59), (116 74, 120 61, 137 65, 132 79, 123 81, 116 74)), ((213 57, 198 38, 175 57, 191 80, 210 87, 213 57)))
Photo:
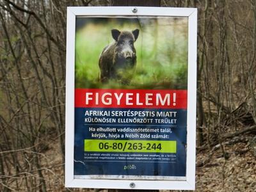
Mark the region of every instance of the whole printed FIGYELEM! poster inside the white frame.
POLYGON ((188 17, 76 17, 75 179, 186 180, 188 17))

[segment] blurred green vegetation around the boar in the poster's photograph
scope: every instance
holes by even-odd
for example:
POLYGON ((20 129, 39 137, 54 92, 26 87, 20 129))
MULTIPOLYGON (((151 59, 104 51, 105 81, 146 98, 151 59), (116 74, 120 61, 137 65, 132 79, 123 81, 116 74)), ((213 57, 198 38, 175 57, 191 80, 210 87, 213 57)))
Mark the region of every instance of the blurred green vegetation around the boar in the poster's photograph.
POLYGON ((76 88, 187 88, 188 19, 78 17, 76 26, 76 88), (129 85, 99 82, 100 53, 114 42, 111 29, 140 29, 134 43, 137 65, 129 85))

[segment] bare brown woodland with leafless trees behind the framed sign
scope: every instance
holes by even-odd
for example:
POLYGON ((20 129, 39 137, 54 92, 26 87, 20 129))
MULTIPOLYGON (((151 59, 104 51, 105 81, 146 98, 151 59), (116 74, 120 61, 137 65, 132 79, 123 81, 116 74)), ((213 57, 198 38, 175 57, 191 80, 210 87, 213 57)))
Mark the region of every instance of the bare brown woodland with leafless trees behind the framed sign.
MULTIPOLYGON (((256 191, 256 2, 159 2, 198 8, 196 191, 256 191)), ((99 191, 64 187, 66 17, 113 3, 0 0, 0 191, 99 191)))

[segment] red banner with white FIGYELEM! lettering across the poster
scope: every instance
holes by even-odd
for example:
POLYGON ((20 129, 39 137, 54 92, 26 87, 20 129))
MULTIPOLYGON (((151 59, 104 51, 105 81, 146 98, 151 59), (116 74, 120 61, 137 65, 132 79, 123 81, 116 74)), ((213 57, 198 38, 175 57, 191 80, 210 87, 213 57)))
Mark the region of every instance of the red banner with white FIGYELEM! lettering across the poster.
POLYGON ((187 90, 76 89, 76 108, 187 109, 187 90))

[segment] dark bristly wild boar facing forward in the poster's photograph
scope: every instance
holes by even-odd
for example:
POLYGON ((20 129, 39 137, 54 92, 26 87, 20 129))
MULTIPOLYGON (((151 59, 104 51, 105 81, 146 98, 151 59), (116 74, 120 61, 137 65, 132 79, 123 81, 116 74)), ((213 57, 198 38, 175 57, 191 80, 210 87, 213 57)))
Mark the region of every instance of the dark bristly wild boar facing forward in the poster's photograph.
POLYGON ((139 29, 134 31, 118 31, 112 29, 111 34, 115 42, 106 46, 99 59, 100 82, 108 83, 116 80, 122 84, 129 84, 132 70, 136 67, 136 42, 139 29))

